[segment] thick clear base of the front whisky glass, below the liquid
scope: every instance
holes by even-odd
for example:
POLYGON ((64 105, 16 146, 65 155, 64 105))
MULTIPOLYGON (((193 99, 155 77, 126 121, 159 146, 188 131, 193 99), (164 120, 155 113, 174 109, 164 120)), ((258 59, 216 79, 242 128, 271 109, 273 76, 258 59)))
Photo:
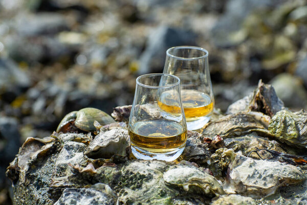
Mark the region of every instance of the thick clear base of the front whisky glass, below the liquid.
POLYGON ((185 148, 185 144, 176 150, 172 150, 171 152, 152 153, 142 148, 131 145, 131 152, 138 159, 145 159, 145 160, 158 159, 158 160, 164 160, 164 161, 173 161, 182 154, 184 148, 185 148))

